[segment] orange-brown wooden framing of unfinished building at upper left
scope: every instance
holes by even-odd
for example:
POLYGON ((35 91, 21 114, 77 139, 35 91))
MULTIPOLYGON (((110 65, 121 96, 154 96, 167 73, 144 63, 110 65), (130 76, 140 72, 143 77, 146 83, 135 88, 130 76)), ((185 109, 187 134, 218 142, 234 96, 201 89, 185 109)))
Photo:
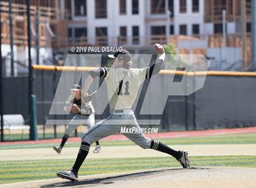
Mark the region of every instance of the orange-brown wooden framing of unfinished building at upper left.
MULTIPOLYGON (((9 2, 1 1, 0 8, 2 44, 10 44, 9 2)), ((54 47, 54 45, 57 47, 60 45, 61 42, 57 38, 54 38, 54 35, 60 35, 66 38, 67 33, 63 32, 63 27, 67 26, 68 24, 66 23, 66 20, 60 19, 60 10, 57 8, 57 1, 32 1, 32 5, 30 5, 30 29, 32 32, 32 45, 36 45, 35 35, 37 35, 37 15, 40 47, 54 47), (51 7, 46 7, 43 5, 51 5, 51 7)), ((13 1, 11 16, 13 45, 24 48, 27 46, 26 1, 24 1, 24 4, 23 1, 13 1)))

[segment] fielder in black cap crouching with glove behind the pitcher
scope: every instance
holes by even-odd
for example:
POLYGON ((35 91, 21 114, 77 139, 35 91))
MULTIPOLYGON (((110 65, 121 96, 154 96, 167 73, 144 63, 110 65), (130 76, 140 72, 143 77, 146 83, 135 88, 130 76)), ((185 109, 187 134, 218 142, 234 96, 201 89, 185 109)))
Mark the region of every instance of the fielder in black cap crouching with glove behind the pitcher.
MULTIPOLYGON (((82 90, 79 84, 74 84, 72 89, 70 90, 71 95, 69 95, 68 100, 65 102, 64 110, 65 112, 70 112, 74 114, 73 118, 68 124, 68 128, 65 130, 64 136, 62 138, 62 142, 60 146, 54 146, 53 149, 55 152, 62 152, 62 148, 64 147, 66 141, 69 138, 69 135, 74 132, 74 130, 80 125, 88 126, 88 129, 95 126, 94 119, 94 107, 89 102, 82 102, 82 90)), ((99 141, 96 141, 96 147, 93 150, 94 153, 99 153, 101 150, 101 146, 99 145, 99 141)))

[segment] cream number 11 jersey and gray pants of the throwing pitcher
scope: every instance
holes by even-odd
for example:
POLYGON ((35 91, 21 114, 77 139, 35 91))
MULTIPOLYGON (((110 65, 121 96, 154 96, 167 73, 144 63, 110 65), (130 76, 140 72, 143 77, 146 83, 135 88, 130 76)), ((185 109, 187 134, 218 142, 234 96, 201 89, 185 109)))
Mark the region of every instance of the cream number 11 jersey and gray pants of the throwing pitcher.
MULTIPOLYGON (((144 69, 125 69, 123 67, 107 69, 102 67, 91 70, 90 75, 93 78, 99 76, 107 82, 111 115, 97 123, 88 132, 83 133, 82 141, 92 144, 94 141, 106 136, 121 133, 122 127, 140 129, 131 109, 132 104, 137 97, 141 82, 146 78, 151 78, 162 67, 163 60, 157 59, 155 64, 144 69)), ((148 149, 151 146, 151 139, 146 138, 142 131, 124 133, 123 135, 144 149, 148 149)))

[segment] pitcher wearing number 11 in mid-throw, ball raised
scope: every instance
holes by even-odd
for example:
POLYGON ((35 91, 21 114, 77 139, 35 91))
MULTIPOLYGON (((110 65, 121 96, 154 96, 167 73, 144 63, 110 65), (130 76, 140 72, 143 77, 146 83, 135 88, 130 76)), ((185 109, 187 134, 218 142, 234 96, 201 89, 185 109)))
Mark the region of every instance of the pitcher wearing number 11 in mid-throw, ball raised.
MULTIPOLYGON (((114 133, 120 133, 121 127, 124 126, 140 129, 131 109, 132 104, 137 97, 141 82, 144 79, 150 79, 151 76, 158 73, 162 69, 165 59, 165 50, 162 45, 155 44, 154 47, 159 56, 157 62, 150 67, 145 67, 144 69, 130 68, 132 65, 130 53, 127 50, 123 50, 114 56, 110 56, 114 58, 112 68, 107 69, 106 67, 102 67, 90 71, 90 75, 85 80, 84 101, 90 101, 95 94, 94 92, 88 95, 88 88, 91 86, 93 79, 96 76, 104 78, 105 82, 107 82, 110 116, 97 123, 96 126, 82 135, 82 143, 74 166, 69 170, 57 173, 57 176, 71 181, 77 181, 78 170, 88 155, 91 143, 114 133)), ((188 152, 186 151, 176 151, 160 143, 160 141, 146 138, 143 132, 125 133, 124 136, 143 149, 154 149, 174 156, 183 168, 190 166, 188 152)))

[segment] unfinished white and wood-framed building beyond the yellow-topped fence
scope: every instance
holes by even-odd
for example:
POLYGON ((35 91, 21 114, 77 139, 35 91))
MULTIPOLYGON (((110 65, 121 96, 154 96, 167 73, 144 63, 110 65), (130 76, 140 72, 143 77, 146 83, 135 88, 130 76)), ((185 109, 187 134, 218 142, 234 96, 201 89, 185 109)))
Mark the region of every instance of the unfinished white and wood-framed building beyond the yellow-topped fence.
MULTIPOLYGON (((26 68, 26 1, 11 2, 12 8, 9 0, 0 2, 2 55, 10 67, 13 38, 15 67, 26 68)), ((71 46, 121 45, 138 52, 155 42, 172 42, 177 53, 201 53, 221 64, 215 69, 251 62, 251 0, 40 0, 30 1, 30 14, 34 64, 60 64, 71 46)))

